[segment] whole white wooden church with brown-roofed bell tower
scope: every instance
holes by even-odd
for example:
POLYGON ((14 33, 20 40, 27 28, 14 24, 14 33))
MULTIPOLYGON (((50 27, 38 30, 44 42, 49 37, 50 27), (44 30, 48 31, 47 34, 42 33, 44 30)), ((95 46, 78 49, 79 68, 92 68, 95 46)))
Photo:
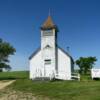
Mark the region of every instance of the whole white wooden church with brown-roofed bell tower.
POLYGON ((72 57, 57 44, 58 28, 51 16, 41 26, 41 47, 29 57, 30 79, 71 80, 72 57))

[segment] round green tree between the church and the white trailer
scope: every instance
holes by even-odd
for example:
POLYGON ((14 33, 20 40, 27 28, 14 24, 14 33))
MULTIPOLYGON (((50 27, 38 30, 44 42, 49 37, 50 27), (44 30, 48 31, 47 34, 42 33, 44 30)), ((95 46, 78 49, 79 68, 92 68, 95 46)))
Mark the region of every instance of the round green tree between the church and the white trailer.
POLYGON ((80 57, 76 60, 76 64, 79 66, 81 74, 87 74, 87 72, 93 68, 96 61, 96 57, 80 57))

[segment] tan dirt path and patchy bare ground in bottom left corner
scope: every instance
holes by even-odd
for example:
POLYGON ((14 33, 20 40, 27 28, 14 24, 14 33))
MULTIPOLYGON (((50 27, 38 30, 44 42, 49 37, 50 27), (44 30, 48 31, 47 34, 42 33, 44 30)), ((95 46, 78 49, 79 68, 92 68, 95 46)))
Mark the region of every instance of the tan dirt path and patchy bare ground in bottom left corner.
POLYGON ((14 81, 15 80, 0 81, 0 100, 51 100, 47 97, 38 97, 36 95, 33 95, 32 93, 24 93, 5 88, 8 85, 12 84, 14 81))

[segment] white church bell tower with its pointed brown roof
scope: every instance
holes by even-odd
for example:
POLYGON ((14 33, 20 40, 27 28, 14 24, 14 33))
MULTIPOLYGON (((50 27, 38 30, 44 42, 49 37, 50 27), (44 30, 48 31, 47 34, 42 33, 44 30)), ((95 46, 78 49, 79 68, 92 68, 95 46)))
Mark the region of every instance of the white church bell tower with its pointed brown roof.
POLYGON ((57 73, 57 32, 57 26, 49 15, 41 26, 41 56, 44 77, 50 77, 57 73))

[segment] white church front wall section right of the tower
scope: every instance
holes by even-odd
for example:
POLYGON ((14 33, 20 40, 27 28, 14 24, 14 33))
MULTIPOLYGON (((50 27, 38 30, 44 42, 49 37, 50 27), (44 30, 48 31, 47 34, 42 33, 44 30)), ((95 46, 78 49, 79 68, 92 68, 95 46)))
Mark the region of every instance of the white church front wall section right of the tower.
POLYGON ((58 48, 58 75, 60 79, 71 79, 71 59, 58 48))

